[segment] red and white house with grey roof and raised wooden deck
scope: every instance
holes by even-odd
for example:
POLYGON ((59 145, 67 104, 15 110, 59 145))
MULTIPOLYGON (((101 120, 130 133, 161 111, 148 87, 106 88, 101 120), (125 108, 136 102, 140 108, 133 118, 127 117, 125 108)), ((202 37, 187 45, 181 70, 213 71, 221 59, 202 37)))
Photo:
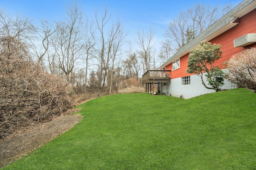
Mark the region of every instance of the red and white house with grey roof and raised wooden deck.
MULTIPOLYGON (((158 69, 159 75, 163 77, 163 74, 166 74, 163 70, 168 70, 169 81, 146 78, 146 75, 152 74, 152 71, 156 72, 156 70, 148 70, 142 76, 143 83, 146 84, 146 91, 151 92, 152 84, 158 84, 161 93, 185 99, 215 92, 215 90, 204 87, 200 76, 186 74, 188 56, 201 41, 222 45, 220 49, 222 50, 222 57, 213 64, 221 69, 224 69, 223 63, 235 53, 256 47, 256 0, 241 2, 162 64, 158 69)), ((207 82, 206 77, 205 82, 207 82)), ((210 85, 208 86, 210 87, 210 85)), ((234 84, 227 80, 221 87, 221 89, 231 88, 234 88, 234 84)))

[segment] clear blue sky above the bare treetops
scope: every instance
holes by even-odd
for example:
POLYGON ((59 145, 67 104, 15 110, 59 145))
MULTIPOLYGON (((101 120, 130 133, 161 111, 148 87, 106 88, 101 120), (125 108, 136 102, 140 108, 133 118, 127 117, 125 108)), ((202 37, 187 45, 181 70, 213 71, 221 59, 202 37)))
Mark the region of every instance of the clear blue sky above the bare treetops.
MULTIPOLYGON (((84 15, 94 17, 95 10, 102 12, 108 4, 108 12, 112 16, 118 15, 129 31, 131 41, 137 36, 137 31, 148 30, 149 25, 156 31, 156 48, 163 39, 164 30, 170 20, 175 18, 180 11, 186 11, 194 4, 209 6, 218 5, 223 8, 225 4, 238 5, 242 0, 78 0, 82 4, 84 15)), ((9 14, 19 14, 34 20, 50 22, 63 20, 66 4, 70 0, 0 0, 0 7, 9 14)))

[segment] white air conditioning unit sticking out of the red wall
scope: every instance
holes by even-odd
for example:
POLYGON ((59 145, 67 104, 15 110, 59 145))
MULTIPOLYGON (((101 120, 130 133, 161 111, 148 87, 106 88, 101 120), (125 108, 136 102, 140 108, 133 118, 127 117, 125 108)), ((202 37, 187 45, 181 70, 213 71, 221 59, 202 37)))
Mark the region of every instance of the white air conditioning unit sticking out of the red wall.
POLYGON ((256 42, 256 33, 249 33, 234 39, 234 47, 244 47, 256 42))

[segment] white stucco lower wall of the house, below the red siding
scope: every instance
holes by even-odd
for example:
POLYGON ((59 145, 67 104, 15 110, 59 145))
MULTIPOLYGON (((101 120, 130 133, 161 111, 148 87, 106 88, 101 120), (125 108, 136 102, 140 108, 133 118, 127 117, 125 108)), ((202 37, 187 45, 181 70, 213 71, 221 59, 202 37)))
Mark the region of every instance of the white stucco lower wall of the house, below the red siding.
MULTIPOLYGON (((206 85, 210 87, 210 85, 207 84, 206 76, 203 77, 206 85)), ((170 93, 171 96, 174 97, 179 98, 182 96, 184 99, 216 92, 215 90, 205 88, 202 84, 201 77, 197 75, 190 76, 190 85, 182 85, 181 81, 181 78, 171 79, 171 83, 167 84, 166 92, 170 93)), ((235 88, 234 85, 227 80, 224 81, 224 85, 221 87, 222 90, 232 88, 235 88)))

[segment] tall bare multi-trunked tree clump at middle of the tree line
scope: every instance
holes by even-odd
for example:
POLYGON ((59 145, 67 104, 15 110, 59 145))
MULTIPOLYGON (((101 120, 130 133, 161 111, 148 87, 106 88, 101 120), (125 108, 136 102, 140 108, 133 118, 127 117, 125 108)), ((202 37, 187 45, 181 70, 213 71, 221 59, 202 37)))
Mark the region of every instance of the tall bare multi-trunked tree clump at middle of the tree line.
POLYGON ((123 31, 123 26, 117 17, 114 22, 112 15, 108 15, 107 7, 104 9, 104 14, 99 17, 98 12, 95 12, 97 29, 99 33, 98 40, 94 46, 94 57, 98 61, 99 68, 99 89, 112 93, 112 84, 114 80, 115 61, 121 52, 121 46, 124 43, 126 34, 123 31), (107 29, 107 28, 110 29, 107 29))

